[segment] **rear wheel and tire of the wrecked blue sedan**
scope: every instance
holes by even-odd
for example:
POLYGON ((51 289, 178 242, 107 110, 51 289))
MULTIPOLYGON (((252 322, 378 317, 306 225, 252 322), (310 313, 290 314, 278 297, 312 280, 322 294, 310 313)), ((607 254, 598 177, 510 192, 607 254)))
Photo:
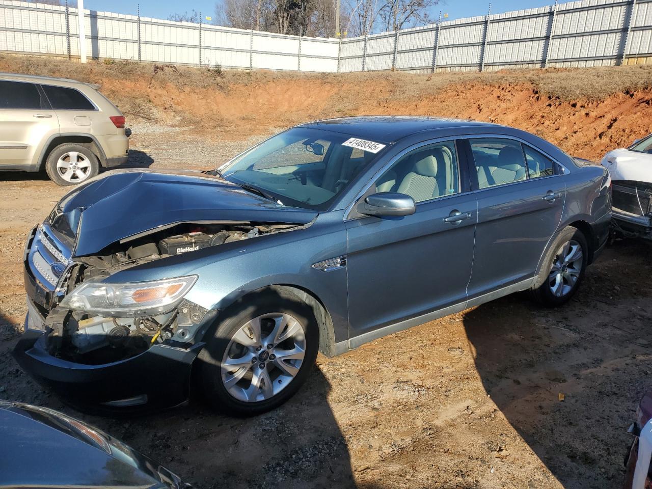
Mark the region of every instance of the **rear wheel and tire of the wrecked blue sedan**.
POLYGON ((572 226, 564 228, 548 247, 541 271, 530 289, 534 299, 548 307, 570 301, 584 278, 588 255, 584 233, 572 226))

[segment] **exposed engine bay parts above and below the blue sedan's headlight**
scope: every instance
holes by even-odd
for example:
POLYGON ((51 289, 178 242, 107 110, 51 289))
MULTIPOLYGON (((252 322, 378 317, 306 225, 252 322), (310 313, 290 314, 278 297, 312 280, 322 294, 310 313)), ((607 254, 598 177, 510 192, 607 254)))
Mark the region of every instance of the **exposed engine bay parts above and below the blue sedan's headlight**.
MULTIPOLYGON (((107 246, 96 256, 76 258, 65 277, 66 293, 85 282, 97 282, 118 271, 149 261, 192 253, 214 246, 239 243, 273 232, 297 228, 295 224, 177 224, 165 230, 107 246)), ((46 325, 52 329, 48 349, 52 355, 82 364, 104 364, 133 357, 155 344, 187 347, 205 323, 208 311, 183 299, 161 314, 113 317, 83 310, 55 307, 46 325)))

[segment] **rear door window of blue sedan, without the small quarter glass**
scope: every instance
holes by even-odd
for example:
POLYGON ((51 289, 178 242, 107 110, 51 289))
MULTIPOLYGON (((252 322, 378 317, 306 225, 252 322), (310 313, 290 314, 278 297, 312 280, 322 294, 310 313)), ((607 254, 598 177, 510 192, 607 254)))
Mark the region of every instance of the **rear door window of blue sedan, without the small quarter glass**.
POLYGON ((526 160, 518 141, 481 138, 469 142, 480 188, 527 179, 526 160))

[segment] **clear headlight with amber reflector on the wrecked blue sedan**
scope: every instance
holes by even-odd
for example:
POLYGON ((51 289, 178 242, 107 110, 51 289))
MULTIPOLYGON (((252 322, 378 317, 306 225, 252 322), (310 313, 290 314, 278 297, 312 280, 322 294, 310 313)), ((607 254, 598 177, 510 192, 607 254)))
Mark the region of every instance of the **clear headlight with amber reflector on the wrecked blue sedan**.
POLYGON ((61 307, 100 316, 156 316, 181 302, 196 280, 190 275, 126 284, 89 281, 64 297, 61 307))

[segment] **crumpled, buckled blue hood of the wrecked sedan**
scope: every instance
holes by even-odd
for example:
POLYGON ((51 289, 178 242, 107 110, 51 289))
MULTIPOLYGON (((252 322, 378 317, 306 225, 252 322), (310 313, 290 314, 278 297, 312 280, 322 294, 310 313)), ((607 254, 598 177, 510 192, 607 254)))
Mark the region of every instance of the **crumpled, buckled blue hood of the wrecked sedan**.
POLYGON ((76 187, 53 215, 78 229, 70 236, 76 241, 75 255, 87 256, 179 222, 307 224, 317 213, 281 205, 198 171, 120 171, 76 187))

